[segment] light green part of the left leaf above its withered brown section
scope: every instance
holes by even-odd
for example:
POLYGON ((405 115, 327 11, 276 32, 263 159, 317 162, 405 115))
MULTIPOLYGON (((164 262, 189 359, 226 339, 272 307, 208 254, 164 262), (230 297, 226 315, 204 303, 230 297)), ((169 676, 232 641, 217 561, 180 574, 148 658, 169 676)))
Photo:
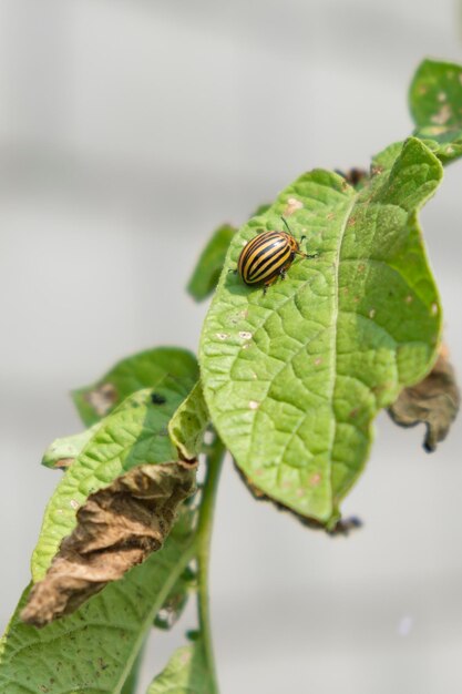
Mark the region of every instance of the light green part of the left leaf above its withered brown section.
MULTIPOLYGON (((185 379, 187 384, 187 378, 185 379)), ((109 415, 50 499, 32 555, 32 578, 40 581, 61 540, 75 527, 76 510, 88 497, 142 463, 168 462, 177 453, 168 437, 168 421, 188 394, 188 386, 170 375, 158 379, 154 395, 145 389, 130 396, 109 415)))

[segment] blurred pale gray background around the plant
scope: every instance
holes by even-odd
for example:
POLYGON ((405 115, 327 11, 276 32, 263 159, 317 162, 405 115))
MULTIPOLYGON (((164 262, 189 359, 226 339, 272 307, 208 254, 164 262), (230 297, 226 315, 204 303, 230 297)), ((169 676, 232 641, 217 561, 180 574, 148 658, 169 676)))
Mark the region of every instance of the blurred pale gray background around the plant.
MULTIPOLYGON (((4 625, 80 428, 68 391, 157 344, 196 349, 184 285, 211 231, 314 166, 404 137, 425 57, 462 61, 454 1, 0 0, 1 608, 4 625)), ((462 163, 422 223, 462 375, 462 163)), ((460 694, 462 419, 377 422, 329 539, 220 483, 212 608, 222 694, 460 694)), ((140 692, 194 610, 156 634, 140 692)))

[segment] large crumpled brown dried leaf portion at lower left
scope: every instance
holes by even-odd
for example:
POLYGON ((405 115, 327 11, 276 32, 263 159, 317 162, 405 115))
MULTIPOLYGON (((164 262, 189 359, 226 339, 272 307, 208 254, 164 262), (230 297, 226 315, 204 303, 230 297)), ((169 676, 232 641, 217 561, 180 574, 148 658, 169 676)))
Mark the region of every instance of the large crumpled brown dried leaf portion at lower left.
POLYGON ((195 491, 196 465, 141 465, 91 494, 75 530, 61 542, 21 619, 44 626, 71 614, 162 548, 179 504, 195 491))

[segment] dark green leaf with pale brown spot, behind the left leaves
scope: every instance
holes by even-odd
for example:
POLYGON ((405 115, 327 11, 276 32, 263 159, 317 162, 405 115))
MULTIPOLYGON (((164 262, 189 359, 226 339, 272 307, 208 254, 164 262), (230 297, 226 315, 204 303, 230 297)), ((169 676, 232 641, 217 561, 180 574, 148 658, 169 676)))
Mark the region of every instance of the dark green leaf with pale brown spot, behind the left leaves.
MULTIPOLYGON (((119 361, 103 378, 72 392, 83 422, 90 427, 109 415, 127 396, 142 388, 155 389, 165 376, 178 379, 187 390, 198 378, 193 354, 176 347, 156 347, 119 361)), ((161 394, 162 396, 162 394, 161 394)))

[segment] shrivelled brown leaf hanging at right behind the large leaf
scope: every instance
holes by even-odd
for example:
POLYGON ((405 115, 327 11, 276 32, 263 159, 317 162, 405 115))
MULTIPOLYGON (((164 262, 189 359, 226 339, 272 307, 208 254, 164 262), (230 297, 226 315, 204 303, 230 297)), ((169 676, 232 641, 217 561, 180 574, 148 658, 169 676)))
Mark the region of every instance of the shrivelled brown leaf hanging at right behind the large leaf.
POLYGON ((432 452, 442 441, 455 419, 460 395, 455 374, 443 346, 430 374, 417 386, 404 388, 390 407, 392 420, 401 427, 427 425, 423 448, 432 452))

